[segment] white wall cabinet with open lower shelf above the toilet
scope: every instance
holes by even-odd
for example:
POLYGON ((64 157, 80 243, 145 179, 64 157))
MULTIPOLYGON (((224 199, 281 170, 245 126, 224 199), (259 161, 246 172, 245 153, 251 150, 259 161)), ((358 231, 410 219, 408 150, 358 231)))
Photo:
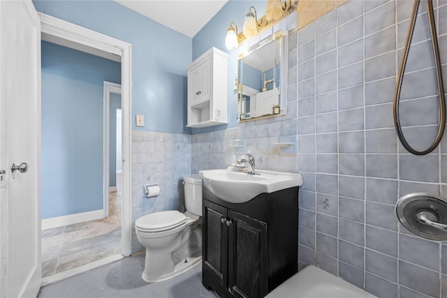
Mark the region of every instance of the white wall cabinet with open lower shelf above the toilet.
POLYGON ((188 125, 227 124, 228 54, 215 47, 188 67, 188 125))

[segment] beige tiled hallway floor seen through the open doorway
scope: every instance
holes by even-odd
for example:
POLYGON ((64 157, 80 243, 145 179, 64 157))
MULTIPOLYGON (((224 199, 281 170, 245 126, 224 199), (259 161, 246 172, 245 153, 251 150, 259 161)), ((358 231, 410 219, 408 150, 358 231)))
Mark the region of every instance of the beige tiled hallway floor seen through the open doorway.
POLYGON ((42 277, 121 252, 122 192, 110 193, 109 217, 42 231, 42 277))

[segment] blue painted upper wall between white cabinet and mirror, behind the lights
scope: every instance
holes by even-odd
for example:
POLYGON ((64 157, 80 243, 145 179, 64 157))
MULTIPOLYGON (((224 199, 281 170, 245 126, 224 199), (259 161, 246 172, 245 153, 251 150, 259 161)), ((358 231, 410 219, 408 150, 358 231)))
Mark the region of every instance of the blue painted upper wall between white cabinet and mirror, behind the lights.
POLYGON ((203 133, 206 131, 217 131, 226 128, 239 126, 236 120, 237 95, 234 90, 234 80, 237 77, 237 50, 228 51, 225 47, 225 37, 230 22, 237 23, 237 29, 242 32, 244 18, 250 6, 254 6, 258 12, 258 17, 265 13, 267 1, 237 1, 230 0, 214 15, 210 22, 203 27, 196 36, 193 37, 193 59, 200 57, 210 47, 217 47, 219 50, 227 52, 228 57, 228 125, 212 126, 209 128, 193 128, 192 133, 203 133))

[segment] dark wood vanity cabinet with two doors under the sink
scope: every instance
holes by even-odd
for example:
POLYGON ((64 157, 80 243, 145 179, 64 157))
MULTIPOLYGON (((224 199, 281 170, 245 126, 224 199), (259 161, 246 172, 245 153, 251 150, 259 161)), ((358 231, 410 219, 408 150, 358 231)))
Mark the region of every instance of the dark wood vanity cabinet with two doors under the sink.
POLYGON ((242 204, 203 187, 203 285, 221 297, 264 297, 298 271, 298 187, 242 204))

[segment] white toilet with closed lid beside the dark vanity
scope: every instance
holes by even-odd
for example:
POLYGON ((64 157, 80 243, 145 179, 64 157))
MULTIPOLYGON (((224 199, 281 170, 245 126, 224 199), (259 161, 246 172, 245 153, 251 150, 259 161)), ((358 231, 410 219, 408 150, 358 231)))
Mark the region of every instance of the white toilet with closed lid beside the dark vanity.
POLYGON ((202 260, 202 178, 185 175, 186 212, 176 210, 147 214, 135 221, 138 241, 146 248, 142 279, 165 281, 202 260))

